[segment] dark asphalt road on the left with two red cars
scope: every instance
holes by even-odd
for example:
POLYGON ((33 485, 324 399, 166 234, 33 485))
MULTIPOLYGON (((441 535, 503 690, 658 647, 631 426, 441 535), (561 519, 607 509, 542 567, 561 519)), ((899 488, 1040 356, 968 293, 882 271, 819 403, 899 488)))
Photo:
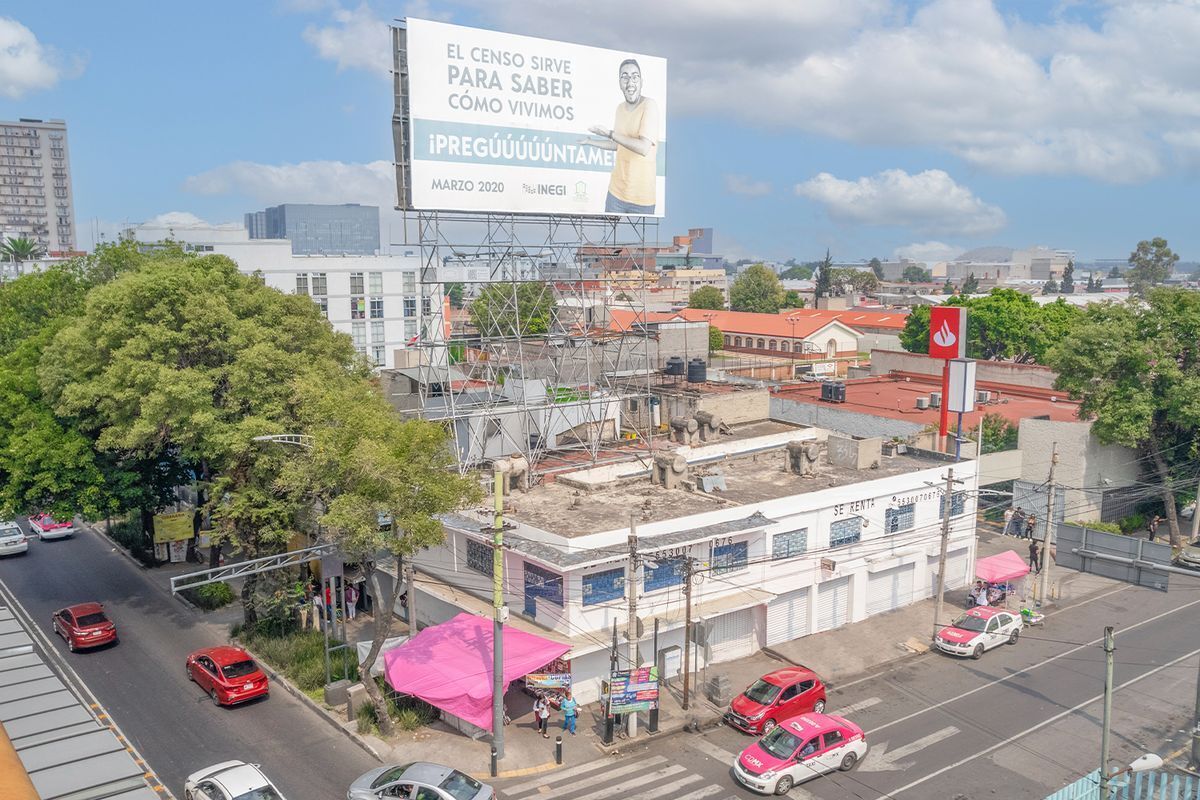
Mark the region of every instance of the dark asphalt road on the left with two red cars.
POLYGON ((350 781, 378 766, 282 690, 233 709, 212 705, 187 680, 184 660, 223 643, 224 631, 151 576, 82 530, 60 541, 35 537, 26 555, 0 559, 0 581, 180 799, 188 774, 229 759, 262 764, 288 800, 340 800, 350 781), (53 636, 50 615, 85 601, 104 603, 119 644, 71 654, 53 636))

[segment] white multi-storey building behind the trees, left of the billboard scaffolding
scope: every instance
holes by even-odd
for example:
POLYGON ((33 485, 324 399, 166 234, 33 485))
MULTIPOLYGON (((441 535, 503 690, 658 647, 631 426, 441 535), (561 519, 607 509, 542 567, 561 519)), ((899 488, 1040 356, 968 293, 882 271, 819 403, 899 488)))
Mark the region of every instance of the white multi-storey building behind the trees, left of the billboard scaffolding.
POLYGON ((420 258, 402 255, 293 255, 287 239, 251 239, 239 224, 151 225, 126 231, 137 241, 167 239, 197 253, 228 255, 266 285, 313 299, 334 330, 377 367, 395 366, 395 351, 415 343, 432 303, 442 302, 437 287, 419 284, 420 258))

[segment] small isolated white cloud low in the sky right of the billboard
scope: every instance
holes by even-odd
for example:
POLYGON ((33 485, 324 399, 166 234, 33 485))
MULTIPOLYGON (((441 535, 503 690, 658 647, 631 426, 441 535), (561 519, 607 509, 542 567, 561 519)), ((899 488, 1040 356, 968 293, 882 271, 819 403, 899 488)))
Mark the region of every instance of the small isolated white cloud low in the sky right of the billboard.
POLYGON ((1006 223, 1000 207, 984 203, 941 169, 914 175, 886 169, 856 181, 821 173, 797 184, 796 193, 824 205, 838 222, 902 225, 960 236, 994 233, 1006 223))

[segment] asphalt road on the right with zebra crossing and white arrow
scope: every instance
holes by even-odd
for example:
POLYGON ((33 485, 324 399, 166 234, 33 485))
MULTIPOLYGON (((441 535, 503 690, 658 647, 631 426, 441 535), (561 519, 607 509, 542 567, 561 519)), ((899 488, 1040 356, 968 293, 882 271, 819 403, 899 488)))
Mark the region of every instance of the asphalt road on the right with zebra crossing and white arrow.
MULTIPOLYGON (((1200 664, 1200 581, 1172 576, 1171 583, 1170 594, 1129 587, 1092 599, 979 661, 931 652, 833 687, 828 710, 860 724, 871 750, 851 772, 806 782, 790 796, 1042 800, 1098 765, 1105 625, 1117 630, 1114 765, 1144 752, 1177 754, 1200 664)), ((727 727, 682 734, 626 747, 616 763, 500 790, 510 800, 547 789, 556 800, 752 798, 730 770, 752 741, 727 727)))

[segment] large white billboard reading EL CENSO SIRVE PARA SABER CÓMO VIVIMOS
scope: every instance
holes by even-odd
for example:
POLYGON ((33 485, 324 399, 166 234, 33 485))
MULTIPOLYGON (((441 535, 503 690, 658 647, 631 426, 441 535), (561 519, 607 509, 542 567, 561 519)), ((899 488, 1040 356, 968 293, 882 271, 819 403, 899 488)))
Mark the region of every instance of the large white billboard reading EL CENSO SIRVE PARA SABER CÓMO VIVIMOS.
POLYGON ((408 19, 412 207, 661 217, 666 59, 408 19))

